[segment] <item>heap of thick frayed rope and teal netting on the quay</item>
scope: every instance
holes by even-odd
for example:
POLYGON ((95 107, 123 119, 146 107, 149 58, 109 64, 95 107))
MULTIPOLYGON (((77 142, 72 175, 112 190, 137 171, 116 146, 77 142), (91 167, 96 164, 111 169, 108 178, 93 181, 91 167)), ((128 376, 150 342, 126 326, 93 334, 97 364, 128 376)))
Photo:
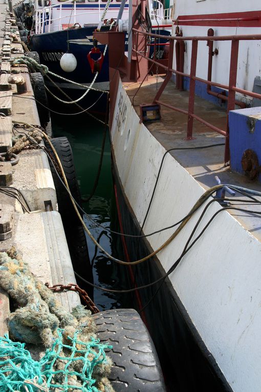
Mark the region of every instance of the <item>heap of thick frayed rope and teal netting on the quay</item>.
POLYGON ((0 337, 1 392, 114 392, 104 353, 112 346, 97 339, 90 311, 67 312, 15 249, 0 253, 0 286, 16 307, 8 317, 12 340, 0 337), (33 359, 24 342, 44 345, 43 356, 33 359))

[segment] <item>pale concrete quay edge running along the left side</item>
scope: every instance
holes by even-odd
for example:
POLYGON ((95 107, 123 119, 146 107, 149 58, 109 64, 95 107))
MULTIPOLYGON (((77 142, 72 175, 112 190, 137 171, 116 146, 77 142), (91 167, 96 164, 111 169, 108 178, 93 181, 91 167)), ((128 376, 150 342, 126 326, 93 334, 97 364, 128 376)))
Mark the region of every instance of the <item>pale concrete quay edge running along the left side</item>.
MULTIPOLYGON (((14 122, 40 125, 29 71, 26 66, 14 68, 10 64, 13 57, 24 54, 10 6, 0 0, 0 153, 5 153, 12 146, 14 122), (12 34, 18 36, 18 42, 13 42, 12 34), (20 94, 17 93, 16 85, 9 82, 9 76, 14 75, 14 72, 17 74, 17 71, 26 82, 26 91, 20 94)), ((26 129, 21 131, 28 132, 26 129)), ((44 144, 43 141, 41 144, 44 144)), ((48 157, 41 149, 25 149, 18 156, 19 161, 13 166, 10 161, 0 161, 0 251, 14 246, 23 255, 23 260, 29 264, 32 273, 44 283, 76 283, 57 209, 48 157), (21 202, 25 204, 23 198, 28 203, 30 212, 25 212, 21 207, 21 202)), ((69 311, 80 303, 78 294, 74 292, 57 293, 57 299, 69 311)), ((7 333, 8 312, 9 298, 2 291, 1 336, 7 333)))

